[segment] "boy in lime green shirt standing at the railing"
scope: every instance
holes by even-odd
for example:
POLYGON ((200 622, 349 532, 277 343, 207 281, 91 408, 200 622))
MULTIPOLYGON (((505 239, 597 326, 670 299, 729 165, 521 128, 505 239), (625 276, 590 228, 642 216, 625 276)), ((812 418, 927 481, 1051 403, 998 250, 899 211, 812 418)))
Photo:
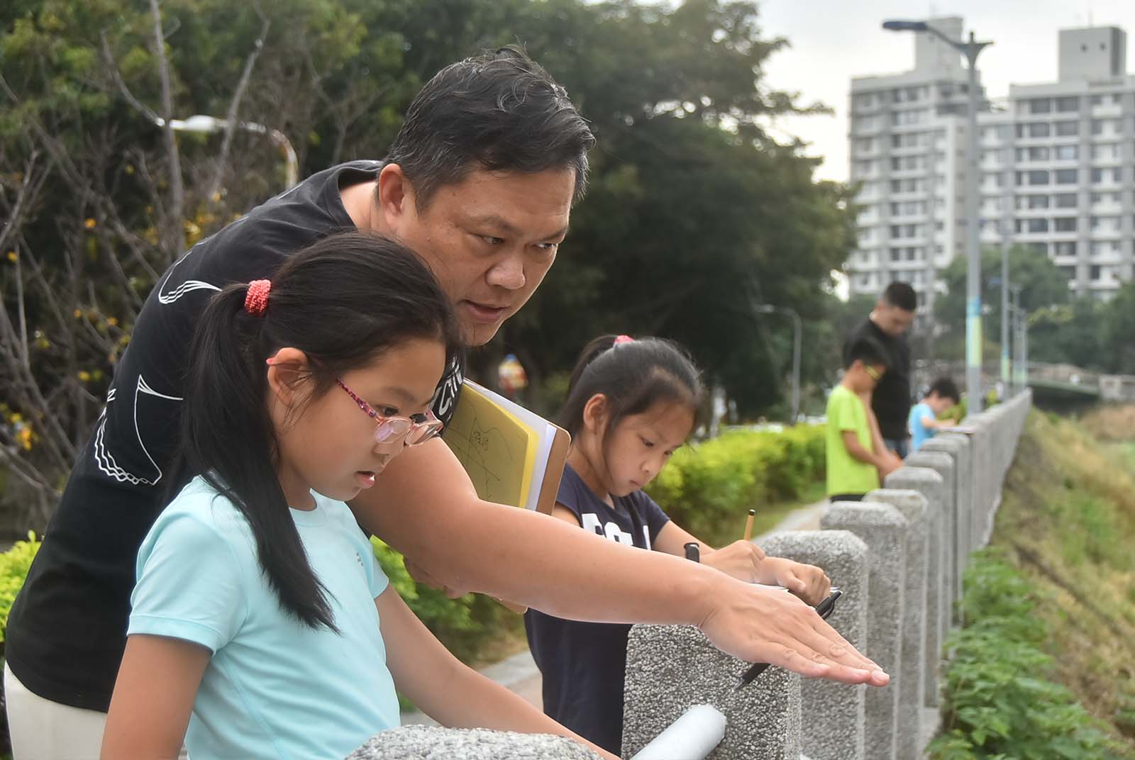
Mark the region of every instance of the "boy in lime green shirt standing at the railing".
POLYGON ((861 398, 875 389, 889 360, 877 341, 860 338, 844 361, 843 379, 827 397, 827 496, 832 501, 859 501, 897 465, 886 451, 874 450, 872 411, 861 398))

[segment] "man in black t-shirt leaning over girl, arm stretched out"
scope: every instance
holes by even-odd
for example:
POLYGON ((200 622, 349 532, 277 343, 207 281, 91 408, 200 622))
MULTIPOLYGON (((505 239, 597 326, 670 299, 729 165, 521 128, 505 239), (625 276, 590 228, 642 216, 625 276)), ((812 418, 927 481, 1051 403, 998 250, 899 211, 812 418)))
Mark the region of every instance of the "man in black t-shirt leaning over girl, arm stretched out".
MULTIPOLYGON (((17 687, 9 694, 41 698, 8 701, 16 760, 99 754, 101 729, 79 753, 41 740, 98 725, 75 710, 104 712, 110 702, 135 556, 169 498, 186 347, 209 297, 228 282, 270 278, 319 237, 371 230, 415 250, 449 296, 465 343, 485 344, 552 267, 592 143, 564 90, 522 52, 471 58, 422 88, 385 162, 316 174, 167 270, 11 609, 5 679, 17 687)), ((443 421, 461 381, 462 368, 451 366, 434 402, 443 421)), ((568 618, 699 625, 748 660, 847 683, 888 681, 789 594, 481 501, 442 440, 398 456, 351 506, 419 580, 454 593, 481 591, 568 618)))

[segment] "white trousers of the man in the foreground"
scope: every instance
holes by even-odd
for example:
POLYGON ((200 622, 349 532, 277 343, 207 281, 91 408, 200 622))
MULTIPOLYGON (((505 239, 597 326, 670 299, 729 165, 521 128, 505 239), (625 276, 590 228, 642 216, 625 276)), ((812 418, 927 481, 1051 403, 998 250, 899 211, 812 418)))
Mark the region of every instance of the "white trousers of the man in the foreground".
MULTIPOLYGON (((12 760, 99 760, 107 713, 34 694, 3 665, 12 760)), ((188 760, 182 748, 180 760, 188 760)))

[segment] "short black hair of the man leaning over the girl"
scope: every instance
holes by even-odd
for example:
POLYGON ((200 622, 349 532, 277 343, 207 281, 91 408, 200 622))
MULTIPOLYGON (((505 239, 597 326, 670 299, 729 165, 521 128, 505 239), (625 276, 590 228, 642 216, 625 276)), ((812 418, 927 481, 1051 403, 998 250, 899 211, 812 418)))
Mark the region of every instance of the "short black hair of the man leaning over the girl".
POLYGON ((387 161, 402 167, 419 209, 439 187, 476 169, 571 169, 574 202, 587 187, 587 152, 594 144, 568 91, 523 50, 508 45, 434 75, 410 104, 387 161))

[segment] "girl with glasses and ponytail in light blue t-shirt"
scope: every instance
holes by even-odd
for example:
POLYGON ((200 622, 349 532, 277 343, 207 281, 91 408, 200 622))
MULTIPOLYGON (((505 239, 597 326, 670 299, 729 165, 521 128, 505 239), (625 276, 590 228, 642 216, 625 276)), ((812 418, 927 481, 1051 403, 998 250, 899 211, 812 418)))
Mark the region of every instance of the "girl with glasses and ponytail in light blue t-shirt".
POLYGON ((447 726, 573 736, 445 650, 344 504, 438 432, 457 345, 426 265, 368 234, 212 297, 182 416, 195 476, 138 551, 106 760, 183 740, 193 760, 343 758, 398 725, 395 687, 447 726))

